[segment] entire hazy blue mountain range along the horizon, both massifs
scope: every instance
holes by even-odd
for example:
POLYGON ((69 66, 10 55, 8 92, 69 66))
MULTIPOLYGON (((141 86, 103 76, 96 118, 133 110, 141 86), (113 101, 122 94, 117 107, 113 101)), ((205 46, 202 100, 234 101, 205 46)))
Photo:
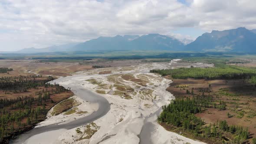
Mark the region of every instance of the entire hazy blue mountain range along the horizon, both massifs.
POLYGON ((168 50, 193 52, 256 52, 256 29, 240 27, 203 33, 194 42, 160 34, 99 37, 84 43, 69 43, 42 49, 26 48, 12 53, 71 51, 168 50))

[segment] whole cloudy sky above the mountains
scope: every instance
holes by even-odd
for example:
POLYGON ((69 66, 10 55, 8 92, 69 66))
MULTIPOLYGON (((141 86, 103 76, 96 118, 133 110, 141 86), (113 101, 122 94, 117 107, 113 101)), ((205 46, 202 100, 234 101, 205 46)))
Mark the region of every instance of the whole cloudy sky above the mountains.
POLYGON ((256 0, 0 0, 0 51, 160 33, 256 29, 256 0))

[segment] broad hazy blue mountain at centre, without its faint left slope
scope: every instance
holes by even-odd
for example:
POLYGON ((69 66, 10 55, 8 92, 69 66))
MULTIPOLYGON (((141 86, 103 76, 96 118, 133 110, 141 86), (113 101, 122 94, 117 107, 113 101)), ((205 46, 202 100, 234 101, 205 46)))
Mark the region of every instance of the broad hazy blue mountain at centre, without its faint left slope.
POLYGON ((86 50, 181 50, 184 44, 179 40, 160 34, 143 36, 99 37, 72 48, 75 51, 86 50))

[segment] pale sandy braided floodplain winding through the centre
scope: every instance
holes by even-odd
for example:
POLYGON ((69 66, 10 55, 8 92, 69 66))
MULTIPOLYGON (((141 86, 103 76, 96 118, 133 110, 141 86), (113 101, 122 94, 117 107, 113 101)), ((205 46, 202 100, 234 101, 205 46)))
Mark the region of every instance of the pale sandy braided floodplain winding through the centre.
POLYGON ((71 88, 79 105, 71 115, 51 115, 13 143, 24 144, 202 144, 166 131, 157 123, 161 107, 174 96, 171 80, 150 69, 210 67, 211 64, 171 62, 110 67, 72 73, 53 81, 71 88), (111 71, 99 74, 102 71, 111 71), (102 97, 102 98, 100 98, 102 97), (79 114, 79 111, 86 113, 79 114), (78 113, 77 113, 78 112, 78 113), (50 135, 50 137, 49 137, 50 135))

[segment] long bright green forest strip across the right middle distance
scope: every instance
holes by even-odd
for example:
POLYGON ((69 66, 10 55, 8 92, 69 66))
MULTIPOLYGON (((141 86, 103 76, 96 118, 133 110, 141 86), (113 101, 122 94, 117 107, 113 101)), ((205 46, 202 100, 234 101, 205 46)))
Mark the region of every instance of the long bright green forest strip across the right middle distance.
POLYGON ((249 79, 256 75, 255 68, 221 65, 213 68, 153 69, 153 73, 171 75, 174 79, 249 79))

